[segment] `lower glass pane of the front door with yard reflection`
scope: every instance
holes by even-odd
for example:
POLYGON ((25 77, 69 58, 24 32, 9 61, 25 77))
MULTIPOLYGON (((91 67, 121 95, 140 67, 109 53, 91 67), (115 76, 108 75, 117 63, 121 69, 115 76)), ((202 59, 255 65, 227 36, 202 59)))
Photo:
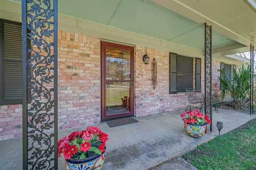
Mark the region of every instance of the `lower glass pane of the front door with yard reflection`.
POLYGON ((130 111, 129 82, 107 81, 106 107, 107 115, 127 113, 130 111))

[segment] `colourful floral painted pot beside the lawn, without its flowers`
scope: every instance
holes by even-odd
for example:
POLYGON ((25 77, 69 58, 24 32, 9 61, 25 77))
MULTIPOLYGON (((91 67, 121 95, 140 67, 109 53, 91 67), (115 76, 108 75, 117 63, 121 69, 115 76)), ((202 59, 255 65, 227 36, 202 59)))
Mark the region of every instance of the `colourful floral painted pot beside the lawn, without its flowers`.
POLYGON ((202 125, 196 125, 196 124, 191 124, 191 123, 185 123, 184 122, 184 127, 190 136, 193 136, 194 138, 203 136, 205 130, 206 130, 206 123, 202 125))

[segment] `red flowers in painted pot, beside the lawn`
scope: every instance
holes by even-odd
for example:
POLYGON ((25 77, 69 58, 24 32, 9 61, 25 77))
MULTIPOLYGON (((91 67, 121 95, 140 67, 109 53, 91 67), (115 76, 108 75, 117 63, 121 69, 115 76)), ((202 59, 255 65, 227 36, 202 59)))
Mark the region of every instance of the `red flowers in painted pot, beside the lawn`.
POLYGON ((197 109, 181 113, 180 117, 184 121, 187 134, 194 138, 202 136, 206 130, 206 124, 211 125, 212 123, 208 115, 203 115, 197 109))

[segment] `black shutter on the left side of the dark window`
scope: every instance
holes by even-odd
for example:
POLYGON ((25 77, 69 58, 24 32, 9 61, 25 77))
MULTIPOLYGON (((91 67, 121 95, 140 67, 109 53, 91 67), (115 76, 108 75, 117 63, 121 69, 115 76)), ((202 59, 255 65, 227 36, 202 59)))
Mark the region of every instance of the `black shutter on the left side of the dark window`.
POLYGON ((177 87, 176 87, 176 77, 177 77, 177 71, 176 71, 176 66, 177 66, 177 54, 176 53, 170 53, 169 56, 169 70, 170 70, 170 87, 169 87, 169 93, 173 94, 173 93, 177 93, 177 87))

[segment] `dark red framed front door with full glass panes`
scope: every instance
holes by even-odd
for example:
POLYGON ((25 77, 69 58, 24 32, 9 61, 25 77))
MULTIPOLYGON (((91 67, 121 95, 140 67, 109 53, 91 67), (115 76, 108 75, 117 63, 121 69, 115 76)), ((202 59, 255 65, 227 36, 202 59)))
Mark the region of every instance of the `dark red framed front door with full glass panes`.
POLYGON ((102 121, 134 116, 134 47, 101 42, 102 121))

